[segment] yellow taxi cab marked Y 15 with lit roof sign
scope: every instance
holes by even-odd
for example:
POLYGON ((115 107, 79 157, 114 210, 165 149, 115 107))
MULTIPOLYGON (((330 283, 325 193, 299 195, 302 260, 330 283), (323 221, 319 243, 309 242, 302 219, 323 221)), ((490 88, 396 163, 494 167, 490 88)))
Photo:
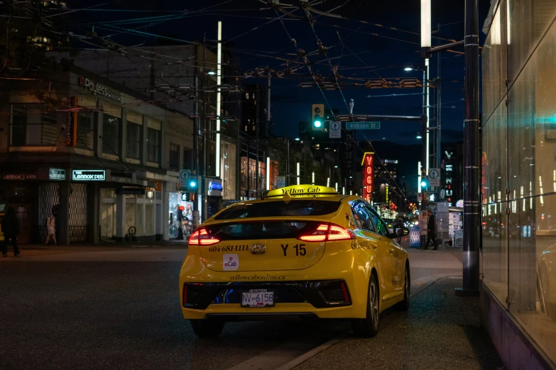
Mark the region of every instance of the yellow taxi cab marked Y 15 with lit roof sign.
MULTIPOLYGON (((408 235, 407 228, 396 230, 408 235)), ((369 203, 288 186, 202 223, 180 269, 180 303, 200 337, 227 321, 334 318, 374 337, 386 308, 409 307, 408 253, 369 203)))

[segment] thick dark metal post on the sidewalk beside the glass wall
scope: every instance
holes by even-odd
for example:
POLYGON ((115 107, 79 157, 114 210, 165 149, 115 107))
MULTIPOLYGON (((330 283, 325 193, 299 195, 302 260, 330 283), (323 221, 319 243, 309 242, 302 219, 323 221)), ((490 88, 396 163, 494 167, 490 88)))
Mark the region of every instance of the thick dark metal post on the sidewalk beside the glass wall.
POLYGON ((479 296, 479 8, 465 0, 464 250, 458 296, 479 296))

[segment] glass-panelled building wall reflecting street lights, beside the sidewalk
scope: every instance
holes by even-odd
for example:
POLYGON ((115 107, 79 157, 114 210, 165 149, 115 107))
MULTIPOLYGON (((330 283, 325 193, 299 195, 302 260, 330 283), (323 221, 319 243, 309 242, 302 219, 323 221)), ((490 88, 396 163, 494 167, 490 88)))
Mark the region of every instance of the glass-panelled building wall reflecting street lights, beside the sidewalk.
POLYGON ((555 19, 500 0, 484 26, 481 304, 508 369, 556 366, 555 19))

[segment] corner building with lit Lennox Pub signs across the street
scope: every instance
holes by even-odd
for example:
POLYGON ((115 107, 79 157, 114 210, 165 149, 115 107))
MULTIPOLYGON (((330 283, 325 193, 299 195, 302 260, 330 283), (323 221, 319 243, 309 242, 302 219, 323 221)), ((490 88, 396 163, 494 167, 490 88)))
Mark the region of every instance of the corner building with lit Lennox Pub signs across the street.
POLYGON ((30 77, 0 103, 0 203, 19 240, 42 242, 50 214, 64 245, 168 240, 191 120, 77 67, 30 77))

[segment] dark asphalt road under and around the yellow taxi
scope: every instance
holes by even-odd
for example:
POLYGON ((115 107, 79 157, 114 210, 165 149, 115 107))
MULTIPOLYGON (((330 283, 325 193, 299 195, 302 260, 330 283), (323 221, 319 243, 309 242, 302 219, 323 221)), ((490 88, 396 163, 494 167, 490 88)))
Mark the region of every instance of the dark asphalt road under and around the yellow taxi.
MULTIPOLYGON (((1 261, 0 369, 230 369, 254 358, 268 363, 271 354, 285 363, 349 328, 334 321, 229 323, 217 340, 200 340, 180 313, 183 253, 1 261)), ((410 261, 414 281, 461 273, 448 252, 412 252, 410 261)))

